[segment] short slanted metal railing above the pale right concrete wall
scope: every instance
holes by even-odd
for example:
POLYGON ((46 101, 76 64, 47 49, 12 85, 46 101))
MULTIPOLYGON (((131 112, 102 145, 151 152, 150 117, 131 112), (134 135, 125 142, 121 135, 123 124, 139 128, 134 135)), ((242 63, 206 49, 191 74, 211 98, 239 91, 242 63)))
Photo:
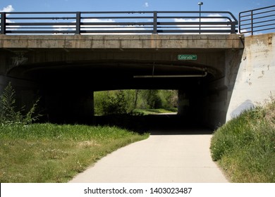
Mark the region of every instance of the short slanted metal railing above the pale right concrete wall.
POLYGON ((251 34, 275 30, 275 6, 239 13, 239 33, 251 34))

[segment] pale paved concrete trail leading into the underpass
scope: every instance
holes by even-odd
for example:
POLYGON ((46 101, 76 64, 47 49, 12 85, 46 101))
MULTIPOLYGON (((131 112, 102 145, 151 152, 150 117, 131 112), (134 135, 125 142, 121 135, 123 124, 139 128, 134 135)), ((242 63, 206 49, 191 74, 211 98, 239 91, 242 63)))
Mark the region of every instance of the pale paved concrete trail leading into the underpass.
POLYGON ((107 155, 72 183, 228 182, 210 156, 209 132, 152 132, 107 155))

